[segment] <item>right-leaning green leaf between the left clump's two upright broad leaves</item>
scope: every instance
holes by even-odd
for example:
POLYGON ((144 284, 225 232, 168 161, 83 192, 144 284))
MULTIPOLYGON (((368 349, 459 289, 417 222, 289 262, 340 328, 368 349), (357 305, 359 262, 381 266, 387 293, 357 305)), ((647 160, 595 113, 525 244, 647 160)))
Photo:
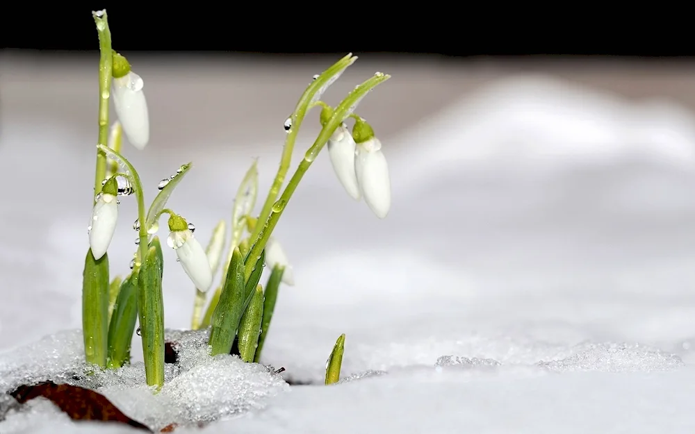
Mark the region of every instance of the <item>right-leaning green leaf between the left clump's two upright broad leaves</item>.
POLYGON ((108 326, 108 367, 113 369, 130 361, 131 342, 138 319, 139 270, 134 269, 121 284, 108 326))

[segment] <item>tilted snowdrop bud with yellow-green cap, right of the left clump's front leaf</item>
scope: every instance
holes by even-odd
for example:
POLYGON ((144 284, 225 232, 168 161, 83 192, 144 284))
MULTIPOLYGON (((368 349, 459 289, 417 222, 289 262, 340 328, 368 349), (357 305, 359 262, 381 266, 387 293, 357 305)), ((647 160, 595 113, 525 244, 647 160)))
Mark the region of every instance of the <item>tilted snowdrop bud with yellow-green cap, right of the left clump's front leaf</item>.
POLYGON ((188 223, 180 215, 169 216, 169 230, 171 232, 167 237, 167 245, 176 251, 183 271, 188 274, 196 289, 206 292, 213 284, 213 273, 203 247, 193 237, 188 223))

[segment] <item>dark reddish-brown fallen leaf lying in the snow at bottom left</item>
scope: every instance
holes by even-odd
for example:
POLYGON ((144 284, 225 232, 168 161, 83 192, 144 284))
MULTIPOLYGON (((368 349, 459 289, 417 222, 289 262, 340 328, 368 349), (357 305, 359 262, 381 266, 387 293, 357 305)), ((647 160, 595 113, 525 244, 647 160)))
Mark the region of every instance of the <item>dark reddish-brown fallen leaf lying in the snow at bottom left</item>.
POLYGON ((49 399, 73 420, 120 422, 152 433, 147 426, 124 415, 104 395, 83 387, 47 381, 32 386, 19 386, 10 395, 19 403, 39 397, 49 399))

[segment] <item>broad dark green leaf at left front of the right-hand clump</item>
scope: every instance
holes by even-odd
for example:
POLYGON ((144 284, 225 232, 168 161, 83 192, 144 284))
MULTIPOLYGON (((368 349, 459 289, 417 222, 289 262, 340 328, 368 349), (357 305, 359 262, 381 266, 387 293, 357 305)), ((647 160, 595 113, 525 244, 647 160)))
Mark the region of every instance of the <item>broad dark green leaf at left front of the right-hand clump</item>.
POLYGON ((244 260, 239 249, 234 249, 220 301, 212 315, 208 344, 212 347, 213 356, 229 354, 231 351, 231 344, 234 343, 234 336, 244 312, 245 296, 244 260))

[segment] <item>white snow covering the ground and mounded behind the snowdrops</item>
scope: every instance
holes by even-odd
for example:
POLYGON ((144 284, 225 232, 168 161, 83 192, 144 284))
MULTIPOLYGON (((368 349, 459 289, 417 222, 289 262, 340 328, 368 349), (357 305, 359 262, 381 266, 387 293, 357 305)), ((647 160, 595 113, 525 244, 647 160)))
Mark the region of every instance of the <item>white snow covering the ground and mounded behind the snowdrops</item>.
MULTIPOLYGON (((86 132, 2 116, 0 159, 17 181, 0 202, 11 228, 0 249, 7 388, 80 363, 76 332, 11 348, 80 326, 93 156, 86 132), (59 195, 24 185, 53 167, 59 195)), ((213 417, 217 405, 224 421, 206 433, 693 433, 694 119, 667 101, 541 76, 493 83, 382 137, 393 185, 383 221, 344 194, 322 154, 277 228, 296 285, 281 288, 263 353, 314 384, 286 387, 259 365, 198 353, 162 397, 123 390, 140 365, 101 387, 152 424, 190 415, 186 405, 213 417), (316 385, 341 333, 345 379, 316 385)), ((252 157, 265 178, 277 167, 277 144, 250 149, 129 155, 153 190, 194 161, 170 204, 206 237, 252 157)), ((123 201, 123 215, 134 209, 123 201)), ((116 272, 130 260, 132 220, 109 251, 116 272)), ((165 253, 166 326, 185 328, 193 289, 165 253)), ((3 434, 128 431, 74 425, 42 401, 6 410, 3 434)))

